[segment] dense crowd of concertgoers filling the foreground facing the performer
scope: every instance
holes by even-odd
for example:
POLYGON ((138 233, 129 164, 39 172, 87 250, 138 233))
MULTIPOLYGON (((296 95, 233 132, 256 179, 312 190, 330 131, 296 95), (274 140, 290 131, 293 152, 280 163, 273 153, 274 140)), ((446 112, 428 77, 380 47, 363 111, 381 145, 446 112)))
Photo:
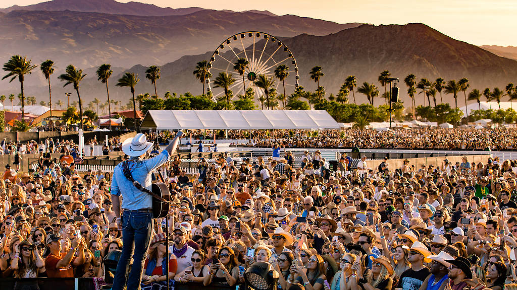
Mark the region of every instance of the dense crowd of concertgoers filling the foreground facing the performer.
MULTIPOLYGON (((408 132, 362 136, 409 138, 408 132)), ((432 132, 421 138, 442 142, 446 133, 432 132)), ((475 138, 502 142, 508 133, 475 138)), ((343 154, 331 169, 314 155, 297 168, 278 146, 273 154, 279 156, 202 159, 196 176, 180 169, 177 156, 164 155, 170 161, 154 176, 166 176, 172 205, 148 229, 141 288, 166 285, 167 274, 172 287, 246 285, 255 262, 270 263, 279 273, 277 286, 290 290, 517 288, 511 160, 368 168, 365 156, 356 169, 343 154)), ((78 172, 63 156, 14 176, 6 175, 9 166, 0 180, 4 278, 84 277, 96 286, 113 280, 103 262, 123 248, 123 229, 138 227, 114 211, 120 204, 114 194, 124 188, 110 172, 78 172)), ((132 263, 135 269, 138 261, 132 263)))

